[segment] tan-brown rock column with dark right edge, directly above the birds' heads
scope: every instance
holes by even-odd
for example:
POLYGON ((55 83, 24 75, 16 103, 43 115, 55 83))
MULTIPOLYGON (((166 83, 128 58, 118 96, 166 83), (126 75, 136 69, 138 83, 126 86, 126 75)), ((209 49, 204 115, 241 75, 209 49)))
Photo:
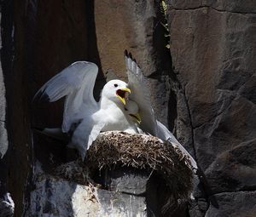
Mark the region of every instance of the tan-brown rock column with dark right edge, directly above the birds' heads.
POLYGON ((123 53, 128 49, 148 76, 147 86, 160 120, 168 124, 171 58, 154 1, 95 1, 96 42, 104 74, 127 79, 123 53))

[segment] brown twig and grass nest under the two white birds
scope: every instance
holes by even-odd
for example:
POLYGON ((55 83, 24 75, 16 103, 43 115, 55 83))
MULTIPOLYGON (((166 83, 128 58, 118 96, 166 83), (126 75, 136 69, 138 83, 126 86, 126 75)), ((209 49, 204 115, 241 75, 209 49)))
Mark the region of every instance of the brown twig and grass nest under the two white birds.
POLYGON ((177 201, 187 201, 192 189, 189 158, 151 135, 102 133, 87 151, 85 165, 90 171, 120 166, 154 172, 166 181, 177 201))

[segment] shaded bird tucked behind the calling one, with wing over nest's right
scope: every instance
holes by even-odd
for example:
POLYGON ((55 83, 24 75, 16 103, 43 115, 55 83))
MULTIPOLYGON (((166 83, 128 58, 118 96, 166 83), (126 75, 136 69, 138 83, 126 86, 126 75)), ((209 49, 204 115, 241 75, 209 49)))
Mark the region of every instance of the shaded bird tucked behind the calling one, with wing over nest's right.
POLYGON ((135 60, 132 59, 131 54, 125 51, 125 66, 128 76, 128 85, 131 89, 131 95, 125 105, 127 114, 131 117, 137 125, 139 132, 152 134, 160 140, 168 141, 173 147, 183 151, 183 154, 189 157, 191 166, 197 169, 195 159, 189 152, 177 141, 175 136, 170 132, 163 123, 160 123, 154 116, 154 110, 150 103, 150 95, 145 86, 145 78, 135 60), (139 116, 138 116, 139 114, 139 116), (139 118, 137 118, 139 117, 139 118))

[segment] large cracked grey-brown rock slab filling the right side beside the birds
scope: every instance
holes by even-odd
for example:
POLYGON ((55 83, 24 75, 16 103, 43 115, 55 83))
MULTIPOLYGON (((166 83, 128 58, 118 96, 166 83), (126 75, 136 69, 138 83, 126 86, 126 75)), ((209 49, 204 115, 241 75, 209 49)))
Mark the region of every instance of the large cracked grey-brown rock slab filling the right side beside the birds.
POLYGON ((248 199, 251 208, 245 208, 238 198, 255 197, 256 190, 256 3, 169 5, 172 64, 180 84, 177 135, 194 147, 212 188, 207 197, 214 195, 219 203, 219 209, 210 204, 205 211, 231 216, 232 208, 232 216, 253 216, 255 202, 248 199))

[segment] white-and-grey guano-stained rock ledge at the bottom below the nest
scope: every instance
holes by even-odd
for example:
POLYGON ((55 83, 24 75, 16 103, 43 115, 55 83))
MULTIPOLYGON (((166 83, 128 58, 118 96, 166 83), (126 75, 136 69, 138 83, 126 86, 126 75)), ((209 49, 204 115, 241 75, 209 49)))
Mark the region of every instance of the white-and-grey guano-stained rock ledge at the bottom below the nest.
POLYGON ((39 176, 27 216, 146 216, 144 197, 39 176))

